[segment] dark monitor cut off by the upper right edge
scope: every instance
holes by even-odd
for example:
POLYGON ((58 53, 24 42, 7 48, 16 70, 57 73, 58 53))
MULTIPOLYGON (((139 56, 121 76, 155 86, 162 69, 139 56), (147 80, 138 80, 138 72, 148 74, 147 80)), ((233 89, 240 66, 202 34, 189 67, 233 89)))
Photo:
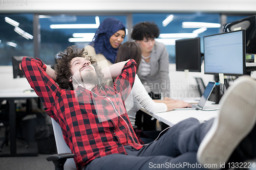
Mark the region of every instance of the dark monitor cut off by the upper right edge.
POLYGON ((256 15, 226 23, 223 32, 245 29, 246 54, 256 54, 256 15))

